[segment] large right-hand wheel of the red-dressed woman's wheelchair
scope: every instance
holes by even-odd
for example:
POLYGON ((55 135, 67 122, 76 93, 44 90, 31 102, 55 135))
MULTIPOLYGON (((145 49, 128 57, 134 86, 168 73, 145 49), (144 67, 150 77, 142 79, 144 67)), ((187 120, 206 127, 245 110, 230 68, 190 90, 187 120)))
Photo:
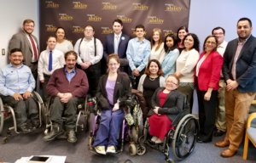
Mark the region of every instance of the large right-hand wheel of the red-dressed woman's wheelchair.
POLYGON ((172 140, 173 154, 178 160, 183 160, 195 149, 198 123, 194 115, 185 115, 179 121, 172 140))

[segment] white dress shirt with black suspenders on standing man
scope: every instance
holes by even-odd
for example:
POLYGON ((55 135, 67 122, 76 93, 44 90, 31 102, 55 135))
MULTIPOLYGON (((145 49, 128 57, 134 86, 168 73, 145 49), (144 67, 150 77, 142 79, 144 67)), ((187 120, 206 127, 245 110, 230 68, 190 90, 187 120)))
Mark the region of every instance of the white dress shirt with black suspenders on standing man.
POLYGON ((100 62, 103 56, 102 42, 97 38, 96 38, 96 56, 95 56, 94 37, 92 37, 90 40, 87 40, 86 38, 80 38, 75 44, 74 51, 79 54, 79 57, 78 57, 79 65, 85 61, 90 61, 92 65, 95 65, 96 63, 100 62), (81 42, 81 39, 83 39, 82 42, 81 42), (80 47, 79 47, 79 44, 80 44, 80 47))

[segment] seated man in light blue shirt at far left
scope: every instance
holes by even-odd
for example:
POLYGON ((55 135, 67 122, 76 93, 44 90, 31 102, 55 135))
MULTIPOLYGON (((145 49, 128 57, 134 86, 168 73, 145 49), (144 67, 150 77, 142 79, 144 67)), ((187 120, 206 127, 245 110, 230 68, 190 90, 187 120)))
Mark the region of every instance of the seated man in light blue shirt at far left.
POLYGON ((13 48, 9 59, 10 64, 0 71, 0 96, 4 104, 9 104, 15 110, 18 132, 32 132, 40 125, 38 106, 32 98, 36 82, 30 68, 22 64, 20 48, 13 48), (28 125, 28 118, 31 125, 28 125))

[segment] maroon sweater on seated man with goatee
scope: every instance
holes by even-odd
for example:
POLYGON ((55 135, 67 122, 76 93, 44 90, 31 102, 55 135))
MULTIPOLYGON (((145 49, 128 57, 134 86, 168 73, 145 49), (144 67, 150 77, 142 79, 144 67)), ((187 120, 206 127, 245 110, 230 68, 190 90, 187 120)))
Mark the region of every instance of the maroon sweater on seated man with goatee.
POLYGON ((74 97, 82 98, 86 96, 89 84, 87 76, 83 70, 76 69, 76 75, 71 82, 68 82, 64 68, 57 69, 49 78, 47 92, 50 96, 58 93, 72 93, 74 97))

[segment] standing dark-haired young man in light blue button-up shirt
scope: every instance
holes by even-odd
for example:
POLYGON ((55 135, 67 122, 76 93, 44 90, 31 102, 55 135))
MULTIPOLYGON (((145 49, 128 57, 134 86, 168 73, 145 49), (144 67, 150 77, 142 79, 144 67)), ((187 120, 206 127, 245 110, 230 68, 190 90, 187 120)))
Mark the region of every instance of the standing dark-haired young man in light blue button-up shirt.
POLYGON ((148 57, 150 55, 150 42, 144 37, 145 33, 145 27, 137 25, 135 27, 137 37, 129 41, 126 51, 130 75, 135 77, 135 83, 133 83, 132 87, 136 89, 140 77, 143 75, 146 65, 148 65, 148 57))

